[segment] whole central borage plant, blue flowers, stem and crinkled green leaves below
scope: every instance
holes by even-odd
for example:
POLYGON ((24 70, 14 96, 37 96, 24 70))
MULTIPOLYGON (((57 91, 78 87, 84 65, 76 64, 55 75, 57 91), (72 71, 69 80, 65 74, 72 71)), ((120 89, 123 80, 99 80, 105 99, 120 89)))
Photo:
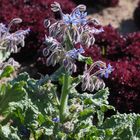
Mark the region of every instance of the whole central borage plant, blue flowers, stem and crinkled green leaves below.
POLYGON ((43 54, 48 66, 58 63, 60 67, 40 80, 21 73, 0 86, 0 138, 137 139, 140 115, 104 117, 108 109, 114 109, 107 101, 109 91, 102 80, 108 78, 112 66, 84 56, 84 49, 94 44, 94 34, 103 29, 95 28, 97 20, 87 19, 84 5, 77 6, 71 14, 64 14, 55 2, 52 10, 60 12, 62 19, 53 23, 45 20, 49 35, 45 38, 47 47, 43 54), (77 43, 79 48, 75 48, 77 43), (82 75, 74 76, 79 69, 77 61, 85 63, 85 69, 82 75))

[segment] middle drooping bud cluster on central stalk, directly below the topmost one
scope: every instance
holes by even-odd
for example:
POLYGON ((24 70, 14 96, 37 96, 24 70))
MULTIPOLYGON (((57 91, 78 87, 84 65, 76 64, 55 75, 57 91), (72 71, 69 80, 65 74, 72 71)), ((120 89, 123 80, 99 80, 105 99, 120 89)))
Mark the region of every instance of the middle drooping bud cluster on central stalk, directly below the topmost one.
POLYGON ((63 64, 65 69, 70 73, 76 72, 77 66, 75 60, 78 59, 78 55, 84 53, 84 49, 72 49, 67 51, 62 44, 52 37, 46 37, 47 48, 43 50, 44 56, 48 56, 46 65, 55 66, 57 63, 63 64))

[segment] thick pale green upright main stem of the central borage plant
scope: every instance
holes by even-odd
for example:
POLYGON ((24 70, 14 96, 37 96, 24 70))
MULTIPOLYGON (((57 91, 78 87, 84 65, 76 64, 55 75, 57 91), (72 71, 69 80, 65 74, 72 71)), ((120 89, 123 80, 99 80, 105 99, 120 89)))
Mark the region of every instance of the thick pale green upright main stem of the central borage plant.
POLYGON ((65 73, 65 75, 63 76, 63 86, 60 98, 60 122, 63 122, 65 120, 67 112, 69 85, 70 85, 70 76, 68 73, 65 73))

